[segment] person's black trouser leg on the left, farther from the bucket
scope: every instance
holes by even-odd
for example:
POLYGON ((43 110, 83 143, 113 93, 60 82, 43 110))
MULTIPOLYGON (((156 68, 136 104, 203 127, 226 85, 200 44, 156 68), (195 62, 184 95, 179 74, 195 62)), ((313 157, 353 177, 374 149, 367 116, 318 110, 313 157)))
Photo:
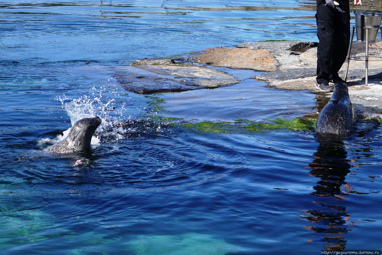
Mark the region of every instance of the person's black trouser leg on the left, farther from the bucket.
POLYGON ((334 22, 337 10, 325 5, 325 0, 317 2, 317 84, 329 83, 330 65, 333 54, 334 22))

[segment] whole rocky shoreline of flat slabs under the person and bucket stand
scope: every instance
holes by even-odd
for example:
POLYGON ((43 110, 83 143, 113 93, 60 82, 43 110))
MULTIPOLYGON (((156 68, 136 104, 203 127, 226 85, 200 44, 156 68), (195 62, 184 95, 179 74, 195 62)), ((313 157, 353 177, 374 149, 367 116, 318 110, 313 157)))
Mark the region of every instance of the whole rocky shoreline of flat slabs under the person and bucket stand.
MULTIPOLYGON (((348 82, 353 104, 382 112, 382 42, 369 44, 369 85, 365 86, 365 62, 351 60, 348 82)), ((151 94, 232 85, 242 79, 219 67, 264 72, 251 77, 270 87, 305 90, 330 96, 315 89, 317 43, 272 41, 242 43, 235 48, 210 48, 172 58, 139 59, 120 70, 117 80, 126 90, 151 94)), ((365 43, 353 42, 352 57, 362 60, 365 43)), ((364 58, 363 58, 364 59, 364 58)), ((345 75, 346 62, 340 70, 345 75)))

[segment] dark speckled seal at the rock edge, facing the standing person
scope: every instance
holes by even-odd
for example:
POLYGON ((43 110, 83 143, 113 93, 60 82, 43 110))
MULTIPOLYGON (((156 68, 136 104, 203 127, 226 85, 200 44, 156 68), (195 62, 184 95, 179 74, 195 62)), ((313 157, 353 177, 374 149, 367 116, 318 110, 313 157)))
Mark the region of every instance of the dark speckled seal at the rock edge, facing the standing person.
POLYGON ((348 86, 344 83, 338 83, 334 87, 332 98, 318 115, 316 132, 346 136, 357 119, 349 98, 348 86))

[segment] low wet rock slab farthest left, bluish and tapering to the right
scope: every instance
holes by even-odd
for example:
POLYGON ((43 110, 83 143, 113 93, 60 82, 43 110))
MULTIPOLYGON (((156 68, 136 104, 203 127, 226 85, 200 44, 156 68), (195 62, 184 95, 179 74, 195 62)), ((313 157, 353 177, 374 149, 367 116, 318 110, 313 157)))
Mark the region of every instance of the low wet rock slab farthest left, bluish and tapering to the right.
POLYGON ((181 63, 125 67, 116 72, 115 78, 125 90, 139 94, 216 88, 240 82, 219 70, 181 63))

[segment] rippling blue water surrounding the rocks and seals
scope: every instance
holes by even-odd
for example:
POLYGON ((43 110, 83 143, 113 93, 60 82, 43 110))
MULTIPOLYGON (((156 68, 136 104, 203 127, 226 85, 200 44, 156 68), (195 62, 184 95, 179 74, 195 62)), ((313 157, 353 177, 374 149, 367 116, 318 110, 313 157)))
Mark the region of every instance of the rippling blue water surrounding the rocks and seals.
POLYGON ((195 132, 178 123, 291 120, 314 116, 322 98, 269 88, 248 70, 220 69, 243 78, 236 85, 157 95, 115 79, 142 57, 317 41, 314 4, 0 2, 1 253, 380 250, 378 123, 359 122, 343 141, 314 131, 195 132), (44 152, 95 114, 103 123, 91 152, 44 152))

